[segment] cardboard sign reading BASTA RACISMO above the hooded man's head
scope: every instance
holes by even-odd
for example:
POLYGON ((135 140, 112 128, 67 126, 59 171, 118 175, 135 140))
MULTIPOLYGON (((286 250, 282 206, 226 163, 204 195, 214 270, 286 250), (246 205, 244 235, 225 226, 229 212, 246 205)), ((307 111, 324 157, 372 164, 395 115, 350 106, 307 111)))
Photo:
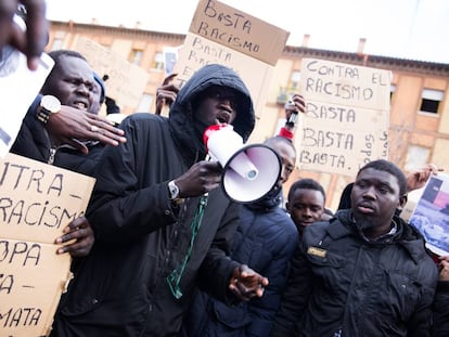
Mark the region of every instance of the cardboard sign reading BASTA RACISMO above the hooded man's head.
POLYGON ((179 51, 174 83, 179 88, 201 67, 218 63, 234 69, 260 117, 273 73, 290 33, 215 0, 200 1, 179 51))

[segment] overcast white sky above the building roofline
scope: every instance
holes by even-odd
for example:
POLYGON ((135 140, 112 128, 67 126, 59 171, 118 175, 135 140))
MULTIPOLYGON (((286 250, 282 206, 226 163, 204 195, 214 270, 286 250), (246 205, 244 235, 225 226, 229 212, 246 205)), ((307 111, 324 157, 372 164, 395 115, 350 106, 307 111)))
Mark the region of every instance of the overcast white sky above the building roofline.
MULTIPOLYGON (((288 46, 449 64, 449 0, 221 0, 290 31, 288 46)), ((187 34, 198 0, 47 0, 54 21, 187 34)))

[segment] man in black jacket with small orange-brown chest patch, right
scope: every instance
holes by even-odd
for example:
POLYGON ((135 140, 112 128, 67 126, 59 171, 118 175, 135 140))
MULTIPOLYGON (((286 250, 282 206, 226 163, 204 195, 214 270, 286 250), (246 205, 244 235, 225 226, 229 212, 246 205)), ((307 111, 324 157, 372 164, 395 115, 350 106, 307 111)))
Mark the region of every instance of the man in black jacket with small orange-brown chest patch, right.
POLYGON ((272 336, 431 336, 437 269, 395 216, 406 193, 393 163, 360 169, 351 208, 304 230, 272 336))

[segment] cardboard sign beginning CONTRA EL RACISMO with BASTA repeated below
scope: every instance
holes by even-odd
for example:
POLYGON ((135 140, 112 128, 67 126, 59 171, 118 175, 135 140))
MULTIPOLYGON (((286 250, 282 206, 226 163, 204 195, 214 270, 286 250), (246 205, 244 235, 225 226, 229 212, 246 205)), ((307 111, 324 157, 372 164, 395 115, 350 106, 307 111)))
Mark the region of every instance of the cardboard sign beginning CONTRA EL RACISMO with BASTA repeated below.
POLYGON ((304 59, 299 91, 307 113, 295 146, 302 169, 355 176, 387 158, 390 72, 304 59))

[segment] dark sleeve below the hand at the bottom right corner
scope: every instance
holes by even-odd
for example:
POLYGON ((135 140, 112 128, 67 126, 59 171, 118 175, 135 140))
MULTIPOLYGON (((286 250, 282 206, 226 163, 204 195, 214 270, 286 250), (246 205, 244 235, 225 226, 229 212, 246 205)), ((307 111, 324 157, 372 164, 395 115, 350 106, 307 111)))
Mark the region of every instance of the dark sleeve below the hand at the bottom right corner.
POLYGON ((434 300, 433 337, 449 336, 449 281, 438 282, 434 300))

